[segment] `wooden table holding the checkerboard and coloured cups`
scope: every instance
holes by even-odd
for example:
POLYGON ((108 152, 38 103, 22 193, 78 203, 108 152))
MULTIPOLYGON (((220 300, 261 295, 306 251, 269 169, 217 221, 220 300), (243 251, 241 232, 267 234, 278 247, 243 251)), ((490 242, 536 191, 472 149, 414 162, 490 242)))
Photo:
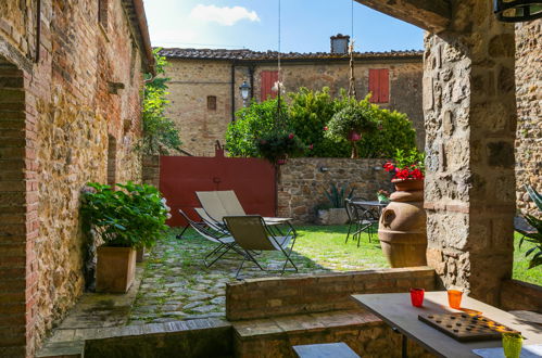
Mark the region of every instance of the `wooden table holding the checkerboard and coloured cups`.
MULTIPOLYGON (((448 306, 445 291, 426 292, 424 307, 420 308, 412 306, 409 293, 363 294, 352 297, 386 323, 396 328, 403 337, 418 342, 427 350, 440 357, 478 357, 472 349, 502 346, 501 341, 462 343, 418 320, 418 315, 461 312, 448 306)), ((481 311, 483 316, 518 330, 527 338, 524 345, 542 344, 540 327, 525 323, 504 310, 466 296, 463 296, 462 308, 481 311)))

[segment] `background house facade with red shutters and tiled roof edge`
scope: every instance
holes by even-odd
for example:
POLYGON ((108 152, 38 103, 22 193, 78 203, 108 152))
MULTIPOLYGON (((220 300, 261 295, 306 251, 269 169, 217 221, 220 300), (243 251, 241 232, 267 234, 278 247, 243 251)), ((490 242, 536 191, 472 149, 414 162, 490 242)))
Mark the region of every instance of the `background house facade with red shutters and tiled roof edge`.
MULTIPOLYGON (((212 156, 215 141, 224 142, 235 112, 243 106, 239 91, 243 81, 251 86, 251 99, 276 95, 277 52, 163 49, 161 54, 168 61, 166 76, 172 78, 167 115, 180 130, 184 150, 192 155, 212 156)), ((283 91, 329 87, 336 95, 348 90, 349 61, 346 53, 282 53, 283 91)), ((406 113, 416 129, 417 145, 424 149, 421 73, 420 51, 355 54, 357 98, 370 90, 375 103, 406 113)))

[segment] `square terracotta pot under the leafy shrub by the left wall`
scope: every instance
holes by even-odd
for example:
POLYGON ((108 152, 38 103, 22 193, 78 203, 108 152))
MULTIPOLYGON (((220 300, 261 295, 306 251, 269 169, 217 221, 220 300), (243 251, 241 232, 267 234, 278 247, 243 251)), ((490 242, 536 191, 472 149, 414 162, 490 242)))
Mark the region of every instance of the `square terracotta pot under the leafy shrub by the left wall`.
POLYGON ((96 291, 126 293, 136 276, 136 250, 133 247, 98 247, 96 291))

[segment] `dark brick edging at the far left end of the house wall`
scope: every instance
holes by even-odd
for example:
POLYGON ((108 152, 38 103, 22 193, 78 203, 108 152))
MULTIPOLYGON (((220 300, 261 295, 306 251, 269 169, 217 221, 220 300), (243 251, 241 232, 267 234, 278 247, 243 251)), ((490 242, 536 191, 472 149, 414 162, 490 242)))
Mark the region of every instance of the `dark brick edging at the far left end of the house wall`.
MULTIPOLYGON (((35 299, 35 279, 27 287, 26 268, 36 265, 33 239, 35 193, 26 194, 25 178, 25 91, 24 73, 0 57, 0 356, 25 354, 26 327, 35 312, 26 316, 26 304, 35 299), (27 202, 28 201, 28 202, 27 202), (31 205, 30 204, 31 201, 31 205), (33 218, 26 225, 28 218, 33 218), (5 347, 7 346, 7 347, 5 347)), ((35 181, 29 182, 30 187, 35 181)), ((30 333, 30 332, 28 332, 30 333)))

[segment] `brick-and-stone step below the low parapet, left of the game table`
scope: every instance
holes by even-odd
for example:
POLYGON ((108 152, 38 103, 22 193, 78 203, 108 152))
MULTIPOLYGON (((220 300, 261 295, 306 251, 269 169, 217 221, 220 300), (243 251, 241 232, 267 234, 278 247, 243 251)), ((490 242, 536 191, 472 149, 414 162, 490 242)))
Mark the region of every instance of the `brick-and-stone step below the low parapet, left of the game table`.
MULTIPOLYGON (((401 357, 401 336, 363 310, 339 310, 236 321, 236 357, 291 357, 292 346, 344 342, 362 357, 401 357)), ((413 357, 432 357, 409 343, 413 357)))

